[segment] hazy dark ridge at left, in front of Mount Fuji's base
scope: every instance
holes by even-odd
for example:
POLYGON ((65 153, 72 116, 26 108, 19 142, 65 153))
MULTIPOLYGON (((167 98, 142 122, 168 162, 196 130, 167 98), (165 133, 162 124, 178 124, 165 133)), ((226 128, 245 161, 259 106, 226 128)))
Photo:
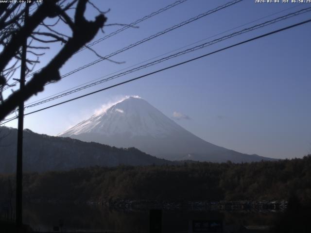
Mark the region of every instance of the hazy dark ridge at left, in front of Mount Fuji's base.
MULTIPOLYGON (((0 172, 16 170, 17 129, 0 127, 0 172), (5 135, 5 136, 4 136, 5 135), (4 136, 4 137, 2 137, 4 136)), ((56 171, 88 166, 173 164, 136 148, 120 149, 96 142, 49 136, 24 130, 23 170, 56 171)))

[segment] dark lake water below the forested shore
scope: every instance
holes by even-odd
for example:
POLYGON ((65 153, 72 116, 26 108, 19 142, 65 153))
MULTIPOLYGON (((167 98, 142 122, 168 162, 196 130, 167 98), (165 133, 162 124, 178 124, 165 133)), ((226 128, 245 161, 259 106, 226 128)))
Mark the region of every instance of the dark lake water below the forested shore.
MULTIPOLYGON (((220 220, 224 229, 235 232, 239 226, 273 225, 279 213, 228 212, 208 210, 163 210, 162 232, 188 232, 190 220, 220 220)), ((64 222, 63 232, 149 232, 148 210, 116 210, 87 204, 26 203, 23 221, 34 230, 52 232, 64 222)))

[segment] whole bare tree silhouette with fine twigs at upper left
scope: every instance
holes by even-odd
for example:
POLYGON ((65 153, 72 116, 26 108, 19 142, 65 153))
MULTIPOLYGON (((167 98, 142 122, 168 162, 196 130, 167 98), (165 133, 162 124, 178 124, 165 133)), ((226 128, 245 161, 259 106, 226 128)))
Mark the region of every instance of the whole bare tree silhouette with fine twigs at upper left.
MULTIPOLYGON (((31 7, 35 7, 34 2, 29 3, 31 7)), ((106 21, 104 12, 89 0, 44 0, 37 4, 25 23, 24 12, 25 5, 21 3, 0 4, 0 121, 15 110, 21 100, 28 100, 43 91, 47 83, 59 81, 59 69, 94 38, 106 21), (99 12, 94 21, 84 17, 87 4, 99 12), (51 20, 55 22, 51 23, 51 20), (59 23, 66 25, 71 35, 59 32, 56 27, 59 23), (34 69, 44 54, 38 50, 49 49, 47 43, 60 42, 63 47, 39 72, 34 73, 22 91, 14 91, 3 99, 3 88, 10 87, 9 80, 19 68, 21 47, 25 39, 28 39, 27 54, 32 55, 32 58, 27 55, 27 73, 34 69)))

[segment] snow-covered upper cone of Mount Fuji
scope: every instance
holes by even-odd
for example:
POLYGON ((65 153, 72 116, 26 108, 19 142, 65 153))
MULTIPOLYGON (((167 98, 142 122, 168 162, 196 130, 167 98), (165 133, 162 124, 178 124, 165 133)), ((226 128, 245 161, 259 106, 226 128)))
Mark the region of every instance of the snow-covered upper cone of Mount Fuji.
POLYGON ((165 137, 172 131, 183 130, 173 120, 162 114, 146 100, 128 97, 84 120, 59 136, 98 133, 105 136, 165 137))

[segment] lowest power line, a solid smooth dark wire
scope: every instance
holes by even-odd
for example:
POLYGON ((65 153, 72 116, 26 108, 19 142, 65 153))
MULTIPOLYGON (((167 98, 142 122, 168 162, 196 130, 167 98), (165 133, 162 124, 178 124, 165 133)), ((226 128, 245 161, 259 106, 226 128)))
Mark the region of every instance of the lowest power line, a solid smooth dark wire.
MULTIPOLYGON (((223 50, 227 50, 227 49, 230 49, 230 48, 233 48, 233 47, 236 47, 236 46, 245 44, 245 43, 247 43, 247 42, 250 42, 250 41, 253 41, 253 40, 257 40, 257 39, 259 39, 259 38, 266 37, 266 36, 268 36, 268 35, 272 35, 272 34, 275 34, 275 33, 279 33, 279 32, 282 32, 282 31, 285 31, 285 30, 288 30, 288 29, 291 29, 291 28, 294 28, 294 27, 297 27, 297 26, 300 26, 300 25, 303 25, 303 24, 306 24, 306 23, 309 23, 309 22, 311 22, 311 19, 308 19, 308 20, 302 21, 302 22, 300 22, 300 23, 296 23, 296 24, 293 24, 293 25, 290 25, 290 26, 287 26, 287 27, 284 27, 284 28, 275 30, 275 31, 270 32, 270 33, 265 33, 265 34, 262 34, 262 35, 253 37, 253 38, 248 39, 248 40, 244 40, 244 41, 239 42, 239 43, 236 43, 236 44, 234 44, 234 45, 227 46, 227 47, 225 47, 225 48, 223 48, 223 49, 219 49, 219 50, 215 50, 215 51, 213 51, 213 52, 209 52, 209 53, 207 53, 207 54, 204 54, 204 55, 201 55, 201 56, 192 58, 192 59, 190 59, 190 60, 187 60, 187 61, 184 61, 184 62, 181 62, 181 63, 177 63, 177 64, 175 64, 175 65, 172 65, 172 66, 169 66, 169 67, 165 67, 165 68, 162 68, 162 69, 153 71, 153 72, 148 73, 148 74, 141 75, 141 76, 139 76, 139 77, 137 77, 137 78, 134 78, 134 79, 130 79, 130 80, 127 80, 127 81, 124 81, 124 82, 121 82, 121 83, 117 83, 117 84, 114 84, 114 85, 105 87, 105 88, 103 88, 103 89, 100 89, 100 90, 97 90, 97 91, 93 91, 93 92, 87 93, 87 94, 82 95, 82 96, 78 96, 78 97, 73 98, 73 99, 70 99, 70 100, 66 100, 66 101, 63 101, 63 102, 59 102, 59 103, 50 105, 50 106, 45 107, 45 108, 41 108, 41 109, 35 110, 35 111, 33 111, 33 112, 24 114, 24 116, 27 116, 27 115, 30 115, 30 114, 34 114, 34 113, 37 113, 37 112, 40 112, 40 111, 43 111, 43 110, 46 110, 46 109, 49 109, 49 108, 52 108, 52 107, 55 107, 55 106, 58 106, 58 105, 67 103, 67 102, 70 102, 70 101, 73 101, 73 100, 78 100, 78 99, 81 99, 81 98, 83 98, 83 97, 86 97, 86 96, 89 96, 89 95, 92 95, 92 94, 95 94, 95 93, 98 93, 98 92, 101 92, 101 91, 104 91, 104 90, 107 90, 107 89, 110 89, 110 88, 119 86, 119 85, 122 85, 122 84, 125 84, 125 83, 130 83, 130 82, 132 82, 132 81, 135 81, 135 80, 138 80, 138 79, 141 79, 141 78, 150 76, 150 75, 152 75, 152 74, 155 74, 155 73, 158 73, 158 72, 161 72, 161 71, 164 71, 164 70, 173 68, 173 67, 178 67, 178 66, 184 65, 184 64, 186 64, 186 63, 189 63, 189 62, 198 60, 198 59, 200 59, 200 58, 207 57, 207 56, 212 55, 212 54, 214 54, 214 53, 217 53, 217 52, 220 52, 220 51, 223 51, 223 50)), ((18 117, 18 116, 17 116, 17 117, 18 117)), ((15 117, 14 119, 16 119, 17 117, 15 117)), ((11 120, 13 120, 13 119, 11 119, 11 120)), ((11 121, 11 120, 8 120, 8 121, 6 121, 6 122, 3 122, 3 123, 1 123, 0 125, 3 125, 3 124, 5 124, 5 123, 7 123, 7 122, 9 122, 9 121, 11 121)))

